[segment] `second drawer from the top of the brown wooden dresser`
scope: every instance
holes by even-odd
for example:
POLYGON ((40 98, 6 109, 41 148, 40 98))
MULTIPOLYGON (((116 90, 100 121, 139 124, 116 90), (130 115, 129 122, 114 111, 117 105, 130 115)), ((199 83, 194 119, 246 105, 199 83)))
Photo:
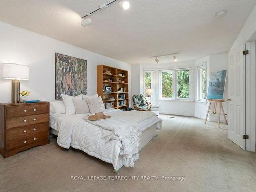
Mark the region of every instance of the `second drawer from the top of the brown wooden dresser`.
POLYGON ((30 124, 49 121, 49 114, 30 115, 23 117, 10 117, 6 119, 6 129, 13 127, 26 126, 30 124))

